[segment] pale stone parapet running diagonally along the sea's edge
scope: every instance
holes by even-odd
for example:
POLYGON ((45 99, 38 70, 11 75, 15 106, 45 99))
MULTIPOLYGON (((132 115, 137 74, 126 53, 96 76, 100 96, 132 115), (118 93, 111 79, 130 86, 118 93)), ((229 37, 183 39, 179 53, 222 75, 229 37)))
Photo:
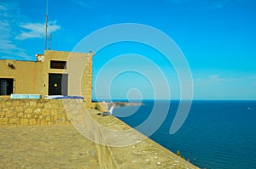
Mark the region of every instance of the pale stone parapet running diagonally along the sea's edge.
MULTIPOLYGON (((100 168, 198 169, 123 121, 112 115, 101 116, 97 113, 96 110, 90 110, 84 115, 88 115, 85 117, 90 132, 87 137, 96 143, 96 157, 100 168)), ((82 133, 83 130, 79 131, 82 133)))

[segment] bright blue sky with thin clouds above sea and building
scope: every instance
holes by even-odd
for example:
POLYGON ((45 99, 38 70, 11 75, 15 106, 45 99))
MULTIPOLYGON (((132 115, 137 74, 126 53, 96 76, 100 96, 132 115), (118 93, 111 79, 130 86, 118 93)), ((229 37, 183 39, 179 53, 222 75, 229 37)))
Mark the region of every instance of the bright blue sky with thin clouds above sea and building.
MULTIPOLYGON (((84 37, 108 25, 149 25, 171 37, 183 52, 193 78, 194 99, 256 99, 254 0, 48 3, 52 50, 73 51, 84 37)), ((44 54, 45 14, 45 0, 0 0, 0 59, 34 60, 35 54, 44 54)), ((84 47, 83 52, 90 49, 95 50, 84 47)), ((180 77, 173 63, 145 44, 113 43, 96 52, 93 64, 93 95, 99 99, 107 99, 108 93, 113 99, 180 97, 180 77), (104 76, 99 76, 103 67, 104 76), (113 72, 117 76, 102 85, 108 82, 105 74, 113 72)))

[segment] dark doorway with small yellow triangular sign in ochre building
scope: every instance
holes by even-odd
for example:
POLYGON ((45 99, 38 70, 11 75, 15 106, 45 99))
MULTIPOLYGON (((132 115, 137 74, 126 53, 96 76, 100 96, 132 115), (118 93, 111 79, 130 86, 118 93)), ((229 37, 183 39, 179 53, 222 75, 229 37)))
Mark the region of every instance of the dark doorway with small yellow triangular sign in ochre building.
POLYGON ((67 74, 49 73, 49 95, 67 96, 67 74))

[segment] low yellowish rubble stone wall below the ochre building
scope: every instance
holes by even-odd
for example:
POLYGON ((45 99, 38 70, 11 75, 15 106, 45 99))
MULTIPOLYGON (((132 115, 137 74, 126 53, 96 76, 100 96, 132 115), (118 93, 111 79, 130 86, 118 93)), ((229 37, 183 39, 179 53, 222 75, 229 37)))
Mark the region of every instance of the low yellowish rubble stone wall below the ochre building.
POLYGON ((0 99, 0 126, 68 124, 79 119, 84 107, 108 109, 107 104, 85 103, 82 99, 0 99))

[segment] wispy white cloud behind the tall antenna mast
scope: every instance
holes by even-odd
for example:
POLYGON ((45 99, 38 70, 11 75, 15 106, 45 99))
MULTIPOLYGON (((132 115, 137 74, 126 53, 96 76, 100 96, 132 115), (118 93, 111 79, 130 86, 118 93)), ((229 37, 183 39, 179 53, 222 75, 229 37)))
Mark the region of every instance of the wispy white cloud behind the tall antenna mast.
MULTIPOLYGON (((61 25, 56 25, 55 21, 49 21, 48 33, 60 30, 61 25)), ((20 24, 20 27, 26 31, 21 31, 20 35, 16 36, 15 39, 25 40, 29 38, 41 38, 45 35, 45 24, 44 23, 25 23, 20 24)))

